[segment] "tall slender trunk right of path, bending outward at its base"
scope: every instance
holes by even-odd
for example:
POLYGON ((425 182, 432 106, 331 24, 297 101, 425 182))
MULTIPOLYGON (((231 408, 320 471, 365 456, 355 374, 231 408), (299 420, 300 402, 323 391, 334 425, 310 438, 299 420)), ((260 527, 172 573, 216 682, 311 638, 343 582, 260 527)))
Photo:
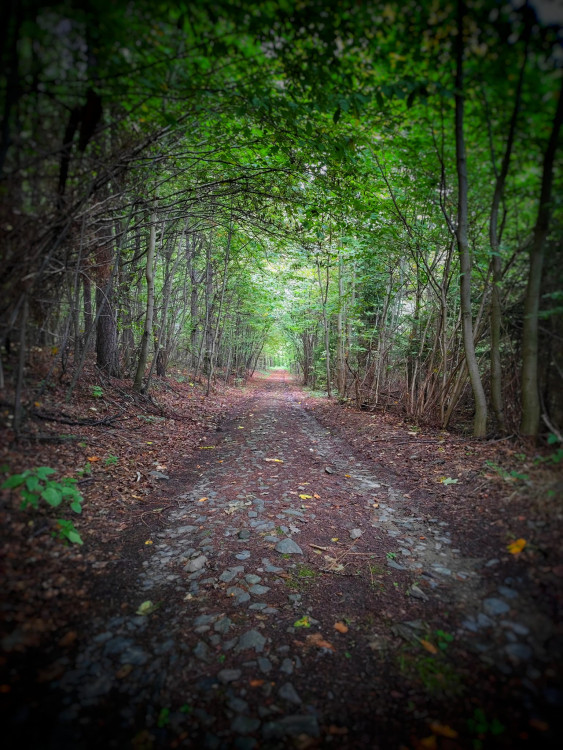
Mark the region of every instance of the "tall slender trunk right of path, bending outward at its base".
POLYGON ((475 401, 475 418, 473 420, 473 435, 484 437, 487 433, 487 399, 481 382, 479 365, 475 354, 473 339, 473 322, 471 313, 471 255, 469 249, 468 232, 468 190, 467 190, 467 159, 465 151, 465 137, 463 128, 464 94, 463 94, 463 19, 465 3, 458 0, 457 11, 457 66, 455 80, 455 140, 456 164, 458 179, 458 210, 457 210, 457 247, 460 265, 460 303, 462 315, 462 335, 465 359, 473 389, 475 401))

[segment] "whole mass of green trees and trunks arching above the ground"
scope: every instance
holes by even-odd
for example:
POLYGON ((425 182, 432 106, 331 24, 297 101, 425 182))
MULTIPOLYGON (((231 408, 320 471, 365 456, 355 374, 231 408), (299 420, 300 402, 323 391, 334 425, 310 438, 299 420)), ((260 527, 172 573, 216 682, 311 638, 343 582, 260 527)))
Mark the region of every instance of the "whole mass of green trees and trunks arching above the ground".
POLYGON ((539 2, 8 2, 2 387, 286 364, 560 436, 561 26, 539 2))

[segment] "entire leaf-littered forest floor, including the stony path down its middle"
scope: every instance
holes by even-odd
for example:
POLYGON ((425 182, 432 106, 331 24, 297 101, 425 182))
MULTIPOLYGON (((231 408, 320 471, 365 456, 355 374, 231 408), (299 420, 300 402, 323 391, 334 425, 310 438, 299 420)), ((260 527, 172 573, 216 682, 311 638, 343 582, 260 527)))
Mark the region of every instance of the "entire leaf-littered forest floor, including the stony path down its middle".
POLYGON ((85 496, 65 546, 3 493, 10 747, 560 746, 557 465, 285 372, 96 383, 3 452, 85 496))

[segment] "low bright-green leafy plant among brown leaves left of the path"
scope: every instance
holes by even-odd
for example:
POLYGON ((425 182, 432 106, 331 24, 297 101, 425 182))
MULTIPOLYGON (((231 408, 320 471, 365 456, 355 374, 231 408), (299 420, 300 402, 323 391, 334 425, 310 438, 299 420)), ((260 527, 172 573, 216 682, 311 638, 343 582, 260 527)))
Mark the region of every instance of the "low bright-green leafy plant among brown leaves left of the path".
MULTIPOLYGON (((82 513, 84 498, 76 487, 76 479, 63 477, 60 481, 49 479, 56 474, 55 469, 49 466, 39 466, 35 469, 26 469, 21 474, 12 474, 0 486, 3 490, 17 490, 21 497, 20 508, 26 510, 31 507, 39 509, 40 501, 51 508, 68 504, 74 513, 82 513)), ((57 519, 57 528, 54 536, 66 539, 73 544, 82 544, 82 539, 72 521, 57 519)))

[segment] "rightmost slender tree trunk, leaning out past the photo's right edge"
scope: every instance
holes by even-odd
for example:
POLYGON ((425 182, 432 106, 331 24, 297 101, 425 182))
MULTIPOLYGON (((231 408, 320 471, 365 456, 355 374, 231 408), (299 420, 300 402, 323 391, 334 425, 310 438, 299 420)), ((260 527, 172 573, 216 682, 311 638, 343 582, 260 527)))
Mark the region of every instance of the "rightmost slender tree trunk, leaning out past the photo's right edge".
POLYGON ((534 238, 530 248, 530 268, 524 303, 524 328, 522 331, 522 376, 521 398, 522 419, 520 433, 535 437, 540 426, 540 396, 538 383, 538 313, 540 304, 542 270, 545 253, 545 240, 551 217, 551 193, 553 186, 553 165, 557 151, 557 140, 563 120, 563 83, 549 142, 544 155, 540 202, 534 227, 534 238))

